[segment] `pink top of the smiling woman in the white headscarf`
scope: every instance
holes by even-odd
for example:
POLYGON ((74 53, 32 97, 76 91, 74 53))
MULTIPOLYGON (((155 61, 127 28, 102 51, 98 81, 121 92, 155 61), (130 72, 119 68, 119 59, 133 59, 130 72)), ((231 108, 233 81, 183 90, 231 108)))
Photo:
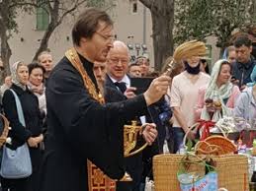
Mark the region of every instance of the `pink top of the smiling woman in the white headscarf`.
MULTIPOLYGON (((200 119, 202 109, 205 106, 205 95, 206 95, 207 87, 208 86, 204 86, 199 89, 198 102, 197 102, 197 106, 195 108, 196 120, 200 119)), ((228 108, 234 108, 234 104, 235 104, 238 96, 240 96, 240 94, 241 93, 240 93, 239 88, 237 86, 234 86, 232 89, 231 95, 227 99, 226 106, 228 108)))

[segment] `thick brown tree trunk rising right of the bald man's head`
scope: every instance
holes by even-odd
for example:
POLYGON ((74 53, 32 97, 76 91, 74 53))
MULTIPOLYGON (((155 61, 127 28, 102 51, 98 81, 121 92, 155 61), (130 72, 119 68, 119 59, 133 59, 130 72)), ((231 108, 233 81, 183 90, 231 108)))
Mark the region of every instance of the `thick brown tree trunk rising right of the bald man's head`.
POLYGON ((160 71, 173 53, 174 0, 154 1, 151 8, 154 66, 160 71))

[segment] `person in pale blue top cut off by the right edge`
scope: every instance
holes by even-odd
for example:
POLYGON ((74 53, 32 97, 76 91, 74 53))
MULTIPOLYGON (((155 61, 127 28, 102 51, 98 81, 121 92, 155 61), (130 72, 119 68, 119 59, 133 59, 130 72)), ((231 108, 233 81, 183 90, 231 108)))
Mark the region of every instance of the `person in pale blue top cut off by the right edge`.
POLYGON ((234 115, 243 117, 248 120, 252 125, 256 125, 256 67, 254 66, 251 73, 252 83, 247 85, 241 95, 239 96, 235 108, 234 115))

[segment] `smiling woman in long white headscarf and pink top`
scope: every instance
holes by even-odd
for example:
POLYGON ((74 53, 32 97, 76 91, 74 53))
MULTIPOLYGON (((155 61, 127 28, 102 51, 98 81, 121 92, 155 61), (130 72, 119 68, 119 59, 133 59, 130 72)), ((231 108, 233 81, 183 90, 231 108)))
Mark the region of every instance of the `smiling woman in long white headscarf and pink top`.
POLYGON ((230 78, 231 64, 227 60, 218 60, 213 65, 209 85, 199 90, 197 118, 217 121, 224 115, 232 115, 240 91, 230 82, 230 78))

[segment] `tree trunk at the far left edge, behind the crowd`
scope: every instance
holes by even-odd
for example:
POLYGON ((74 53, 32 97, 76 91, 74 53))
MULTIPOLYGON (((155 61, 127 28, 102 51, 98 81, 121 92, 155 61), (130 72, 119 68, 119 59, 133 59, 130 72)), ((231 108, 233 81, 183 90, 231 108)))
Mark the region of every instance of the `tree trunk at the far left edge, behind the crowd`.
POLYGON ((0 83, 3 84, 4 78, 7 75, 10 75, 10 64, 9 60, 12 55, 12 50, 10 48, 10 45, 8 43, 8 36, 7 36, 7 31, 4 30, 3 26, 1 27, 2 29, 0 30, 0 39, 1 39, 1 59, 4 64, 4 75, 0 77, 0 83))

